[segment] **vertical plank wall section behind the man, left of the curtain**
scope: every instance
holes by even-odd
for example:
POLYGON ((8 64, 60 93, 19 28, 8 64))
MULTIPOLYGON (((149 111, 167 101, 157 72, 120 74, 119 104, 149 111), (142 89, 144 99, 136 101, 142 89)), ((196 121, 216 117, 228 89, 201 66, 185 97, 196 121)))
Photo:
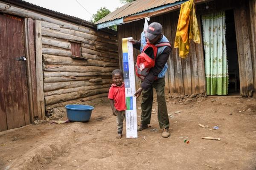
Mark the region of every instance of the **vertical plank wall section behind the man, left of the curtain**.
MULTIPOLYGON (((168 38, 173 46, 176 34, 179 11, 152 17, 151 22, 158 22, 163 26, 163 34, 168 38)), ((134 37, 139 40, 143 31, 144 20, 134 21, 118 26, 119 58, 122 59, 122 38, 134 37)), ((186 59, 178 57, 176 48, 172 48, 172 53, 168 60, 168 73, 166 75, 166 91, 179 94, 199 94, 205 91, 204 75, 204 55, 203 45, 191 43, 190 54, 186 59)), ((134 51, 134 58, 140 51, 134 51)), ((137 82, 139 80, 137 79, 137 82)), ((139 83, 137 83, 138 85, 139 83)))

